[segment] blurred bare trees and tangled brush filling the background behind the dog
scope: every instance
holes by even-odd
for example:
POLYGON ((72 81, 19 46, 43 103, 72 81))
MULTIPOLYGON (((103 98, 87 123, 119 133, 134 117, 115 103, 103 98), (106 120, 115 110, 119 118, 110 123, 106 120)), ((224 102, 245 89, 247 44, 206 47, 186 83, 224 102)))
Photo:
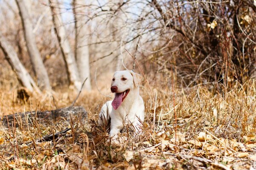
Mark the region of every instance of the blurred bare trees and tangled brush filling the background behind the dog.
MULTIPOLYGON (((96 68, 103 77, 138 71, 125 49, 154 85, 169 85, 172 73, 183 88, 228 87, 256 76, 255 0, 0 2, 1 36, 41 90, 79 90, 86 77, 90 90, 96 68)), ((6 56, 2 50, 1 66, 15 70, 6 56)))

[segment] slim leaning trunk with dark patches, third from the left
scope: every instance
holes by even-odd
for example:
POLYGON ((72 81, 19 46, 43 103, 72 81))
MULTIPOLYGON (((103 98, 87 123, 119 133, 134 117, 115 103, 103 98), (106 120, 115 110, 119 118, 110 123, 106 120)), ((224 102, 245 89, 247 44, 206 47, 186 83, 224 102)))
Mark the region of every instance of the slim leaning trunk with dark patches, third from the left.
POLYGON ((81 82, 79 79, 76 59, 71 51, 70 44, 67 40, 66 30, 63 26, 61 14, 58 8, 58 1, 49 0, 49 3, 52 11, 52 21, 55 26, 55 32, 58 37, 58 42, 61 47, 61 53, 67 68, 68 79, 70 81, 70 84, 75 85, 75 88, 79 91, 81 88, 81 82))

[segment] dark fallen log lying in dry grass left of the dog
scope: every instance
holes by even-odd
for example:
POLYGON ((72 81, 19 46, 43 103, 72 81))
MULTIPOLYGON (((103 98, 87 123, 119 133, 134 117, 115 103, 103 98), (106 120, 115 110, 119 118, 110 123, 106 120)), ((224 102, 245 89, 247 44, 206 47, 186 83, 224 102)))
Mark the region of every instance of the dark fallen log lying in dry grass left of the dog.
POLYGON ((70 106, 52 111, 32 111, 23 113, 14 113, 0 117, 0 125, 4 127, 26 127, 32 124, 52 124, 59 121, 73 122, 81 118, 84 122, 87 119, 87 111, 81 106, 70 106))

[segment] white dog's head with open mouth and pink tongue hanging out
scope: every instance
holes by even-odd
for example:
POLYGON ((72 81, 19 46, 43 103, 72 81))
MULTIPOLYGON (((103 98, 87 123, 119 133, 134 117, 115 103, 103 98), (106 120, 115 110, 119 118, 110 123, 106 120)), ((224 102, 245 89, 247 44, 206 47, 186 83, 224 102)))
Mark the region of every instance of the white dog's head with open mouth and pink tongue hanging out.
POLYGON ((133 71, 116 71, 111 85, 112 93, 116 93, 112 106, 116 110, 124 101, 129 92, 137 88, 142 77, 133 71))

